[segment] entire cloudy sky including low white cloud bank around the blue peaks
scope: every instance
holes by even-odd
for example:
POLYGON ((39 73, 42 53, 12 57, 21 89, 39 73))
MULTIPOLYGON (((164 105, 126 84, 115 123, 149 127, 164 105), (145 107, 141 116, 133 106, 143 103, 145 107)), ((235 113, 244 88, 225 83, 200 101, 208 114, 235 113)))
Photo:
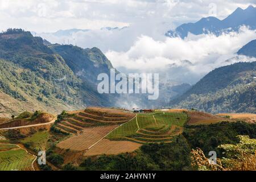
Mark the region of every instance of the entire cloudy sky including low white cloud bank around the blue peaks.
POLYGON ((238 49, 256 39, 255 31, 243 27, 238 33, 191 35, 185 40, 167 38, 164 33, 207 16, 224 19, 237 7, 249 5, 256 6, 256 0, 0 0, 0 29, 23 28, 52 43, 65 40, 83 48, 99 47, 123 72, 161 72, 172 65, 172 76, 179 77, 176 81, 194 84, 237 56, 238 49), (49 34, 71 28, 90 31, 49 34), (187 78, 179 73, 184 69, 187 78))

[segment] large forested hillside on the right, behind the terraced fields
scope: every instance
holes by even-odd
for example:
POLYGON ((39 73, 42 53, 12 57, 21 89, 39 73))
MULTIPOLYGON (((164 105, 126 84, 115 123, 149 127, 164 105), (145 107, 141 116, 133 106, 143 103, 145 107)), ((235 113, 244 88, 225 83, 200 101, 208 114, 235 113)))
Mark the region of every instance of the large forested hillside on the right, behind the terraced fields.
POLYGON ((256 113, 255 77, 256 62, 217 68, 171 101, 171 106, 208 113, 256 113))

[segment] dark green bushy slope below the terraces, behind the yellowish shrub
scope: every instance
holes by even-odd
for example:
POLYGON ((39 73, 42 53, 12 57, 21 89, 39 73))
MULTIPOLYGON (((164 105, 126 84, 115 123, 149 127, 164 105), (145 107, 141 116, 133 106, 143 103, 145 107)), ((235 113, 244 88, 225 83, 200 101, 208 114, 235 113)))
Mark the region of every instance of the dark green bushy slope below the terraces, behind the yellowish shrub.
MULTIPOLYGON (((256 138, 256 125, 245 122, 224 122, 214 125, 186 126, 184 133, 174 138, 172 143, 144 144, 134 154, 102 155, 87 158, 80 165, 82 170, 197 170, 191 165, 191 151, 202 148, 205 154, 216 151, 218 158, 222 154, 222 144, 228 146, 240 142, 238 135, 256 138)), ((200 149, 201 150, 201 149, 200 149)))

